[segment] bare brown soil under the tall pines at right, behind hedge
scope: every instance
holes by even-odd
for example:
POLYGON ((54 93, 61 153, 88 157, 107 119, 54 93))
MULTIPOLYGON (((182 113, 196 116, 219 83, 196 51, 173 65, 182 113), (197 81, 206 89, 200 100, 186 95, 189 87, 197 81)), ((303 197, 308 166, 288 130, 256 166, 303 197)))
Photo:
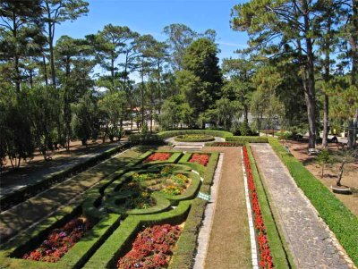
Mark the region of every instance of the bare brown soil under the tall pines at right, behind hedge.
MULTIPOLYGON (((308 145, 306 142, 288 140, 281 143, 288 146, 294 157, 300 160, 303 165, 331 191, 330 186, 335 185, 337 181, 339 163, 328 164, 322 178, 322 168, 315 156, 309 156, 307 154, 308 145)), ((333 152, 340 150, 336 144, 328 144, 328 149, 333 152)), ((340 199, 353 214, 358 215, 358 160, 355 160, 353 164, 345 164, 345 172, 343 173, 341 183, 342 185, 350 187, 353 194, 345 195, 334 193, 334 195, 340 199)))

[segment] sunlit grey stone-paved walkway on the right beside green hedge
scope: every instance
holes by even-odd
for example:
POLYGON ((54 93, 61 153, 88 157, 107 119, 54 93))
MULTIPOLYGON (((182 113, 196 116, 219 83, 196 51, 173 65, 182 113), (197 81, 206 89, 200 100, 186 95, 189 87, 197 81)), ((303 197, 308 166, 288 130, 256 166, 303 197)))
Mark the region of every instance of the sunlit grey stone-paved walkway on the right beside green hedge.
POLYGON ((326 223, 268 144, 251 144, 297 268, 350 267, 326 223))

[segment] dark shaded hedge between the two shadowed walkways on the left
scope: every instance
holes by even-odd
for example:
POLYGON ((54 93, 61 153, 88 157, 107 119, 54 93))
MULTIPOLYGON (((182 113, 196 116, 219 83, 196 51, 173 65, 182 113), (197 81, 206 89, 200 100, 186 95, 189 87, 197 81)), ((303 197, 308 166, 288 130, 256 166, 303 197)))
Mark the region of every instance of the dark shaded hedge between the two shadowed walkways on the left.
POLYGON ((0 198, 0 209, 4 211, 13 206, 16 206, 21 202, 27 200, 28 198, 34 197, 39 192, 48 189, 59 182, 64 181, 66 178, 71 177, 74 174, 86 170, 90 166, 98 164, 99 162, 109 158, 110 156, 115 155, 116 153, 128 147, 131 147, 130 143, 124 143, 119 145, 118 147, 110 148, 107 151, 99 154, 98 156, 91 157, 90 159, 87 159, 80 164, 74 164, 70 167, 65 168, 64 170, 54 172, 41 181, 34 182, 32 184, 27 185, 26 187, 4 195, 2 198, 0 198))

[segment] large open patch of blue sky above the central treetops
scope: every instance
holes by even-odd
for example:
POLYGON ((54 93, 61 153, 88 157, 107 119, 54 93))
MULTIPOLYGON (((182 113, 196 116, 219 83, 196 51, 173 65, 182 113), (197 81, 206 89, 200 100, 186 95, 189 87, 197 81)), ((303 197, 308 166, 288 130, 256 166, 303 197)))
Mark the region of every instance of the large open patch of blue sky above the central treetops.
POLYGON ((247 35, 230 28, 230 13, 242 0, 90 0, 90 13, 76 21, 57 26, 55 38, 68 35, 84 38, 112 23, 128 26, 140 34, 166 40, 163 29, 172 23, 183 23, 197 32, 217 31, 218 55, 237 57, 234 51, 246 46, 247 35))

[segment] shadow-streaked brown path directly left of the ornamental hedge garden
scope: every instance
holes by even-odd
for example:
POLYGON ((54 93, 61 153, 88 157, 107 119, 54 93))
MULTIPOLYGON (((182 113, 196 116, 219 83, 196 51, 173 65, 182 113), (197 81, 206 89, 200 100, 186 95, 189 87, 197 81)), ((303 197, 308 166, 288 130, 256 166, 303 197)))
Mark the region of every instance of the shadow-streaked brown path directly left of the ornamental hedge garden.
POLYGON ((140 152, 132 149, 124 151, 105 162, 81 172, 71 179, 39 193, 17 206, 0 214, 0 241, 10 239, 19 231, 28 228, 31 224, 54 212, 59 206, 64 206, 73 198, 81 198, 86 190, 105 179, 109 174, 132 161, 133 157, 140 156, 140 152))

